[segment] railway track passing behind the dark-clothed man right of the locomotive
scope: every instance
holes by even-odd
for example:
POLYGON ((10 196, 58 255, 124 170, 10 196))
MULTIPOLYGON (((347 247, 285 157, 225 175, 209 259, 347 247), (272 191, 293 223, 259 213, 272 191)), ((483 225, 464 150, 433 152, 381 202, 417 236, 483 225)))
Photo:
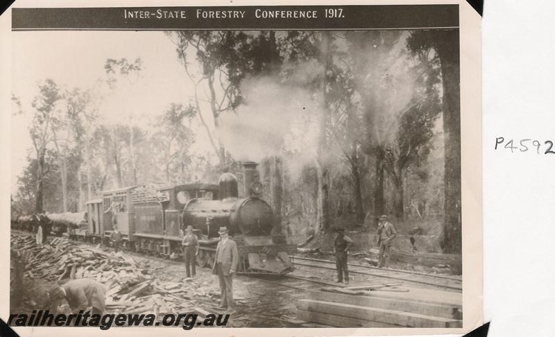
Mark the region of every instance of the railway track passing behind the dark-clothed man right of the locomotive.
MULTIPOLYGON (((295 266, 302 267, 302 268, 298 268, 298 270, 300 269, 301 271, 302 269, 306 269, 306 267, 329 269, 329 270, 336 269, 334 261, 321 260, 321 259, 309 259, 309 258, 294 257, 294 256, 292 258, 295 266)), ((426 274, 426 273, 411 273, 408 270, 375 268, 371 266, 360 265, 357 263, 348 263, 348 265, 349 265, 350 274, 364 275, 367 277, 371 277, 374 280, 388 279, 390 281, 391 280, 400 281, 403 284, 418 284, 418 285, 425 285, 425 286, 430 286, 435 288, 442 288, 450 291, 457 291, 457 292, 462 291, 462 280, 456 277, 445 277, 443 275, 434 275, 434 274, 426 274)), ((305 270, 305 271, 309 271, 309 270, 305 270)))

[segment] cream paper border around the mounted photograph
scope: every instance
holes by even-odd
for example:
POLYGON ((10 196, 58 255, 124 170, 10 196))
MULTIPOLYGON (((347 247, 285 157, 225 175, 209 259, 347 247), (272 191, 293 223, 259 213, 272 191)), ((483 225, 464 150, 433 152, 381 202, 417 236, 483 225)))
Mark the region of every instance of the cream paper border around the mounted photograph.
MULTIPOLYGON (((276 1, 277 4, 278 1, 276 1)), ((462 246, 463 246, 463 328, 456 329, 427 329, 427 328, 264 328, 262 331, 268 336, 375 336, 375 335, 416 335, 416 334, 463 334, 482 325, 482 193, 481 193, 481 17, 466 1, 410 1, 410 4, 459 4, 459 36, 460 36, 460 71, 461 71, 461 218, 462 218, 462 246)), ((280 5, 294 6, 295 1, 279 1, 280 5)), ((337 5, 332 1, 306 1, 303 5, 337 5)), ((349 1, 341 5, 393 5, 408 4, 407 1, 349 1)), ((17 1, 17 7, 99 7, 98 1, 17 1), (46 6, 47 5, 47 6, 46 6)), ((129 2, 103 1, 102 7, 130 6, 129 2)), ((254 1, 195 1, 182 3, 178 1, 134 1, 132 6, 257 6, 260 3, 254 1)), ((268 3, 264 3, 267 6, 268 3)), ((130 6, 130 7, 132 7, 130 6)), ((11 10, 8 9, 0 17, 0 36, 3 43, 0 48, 1 62, 1 107, 3 114, 0 117, 1 144, 0 155, 4 158, 0 164, 1 172, 10 172, 10 142, 11 133, 18 130, 10 130, 10 93, 11 93, 11 10)), ((3 174, 0 178, 1 202, 0 217, 9 223, 10 212, 8 209, 8 198, 10 191, 10 175, 3 174), (6 198, 4 200, 3 198, 6 198)), ((4 303, 0 307, 0 316, 8 317, 9 314, 9 282, 10 282, 10 227, 0 227, 0 240, 3 240, 3 250, 0 254, 0 262, 4 277, 1 279, 5 291, 0 294, 0 301, 4 303)), ((2 241, 0 241, 2 242, 2 241)), ((99 334, 99 328, 69 327, 57 329, 53 327, 13 327, 20 336, 31 336, 33 334, 44 334, 56 329, 58 336, 74 336, 77 332, 92 336, 99 334)), ((165 329, 160 327, 149 327, 148 329, 135 328, 133 334, 136 336, 151 336, 163 332, 178 336, 183 334, 182 329, 165 329)), ((230 336, 259 336, 260 328, 228 328, 225 331, 219 329, 195 329, 196 336, 213 336, 215 334, 230 334, 230 336)), ((129 331, 125 329, 110 329, 103 334, 112 336, 126 336, 129 331)))

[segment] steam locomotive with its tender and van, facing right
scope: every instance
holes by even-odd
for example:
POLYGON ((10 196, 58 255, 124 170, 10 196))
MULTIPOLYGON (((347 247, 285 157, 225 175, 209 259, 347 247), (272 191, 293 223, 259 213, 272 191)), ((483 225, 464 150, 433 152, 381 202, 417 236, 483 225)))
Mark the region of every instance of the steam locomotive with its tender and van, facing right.
POLYGON ((244 166, 244 193, 237 177, 223 173, 218 184, 173 187, 141 185, 103 191, 87 202, 87 228, 76 231, 88 241, 108 243, 117 226, 126 249, 161 257, 182 255, 183 231, 191 225, 199 236, 199 266, 212 266, 219 227, 228 227, 239 251, 239 273, 284 274, 293 270, 288 243, 262 196, 255 162, 244 166))

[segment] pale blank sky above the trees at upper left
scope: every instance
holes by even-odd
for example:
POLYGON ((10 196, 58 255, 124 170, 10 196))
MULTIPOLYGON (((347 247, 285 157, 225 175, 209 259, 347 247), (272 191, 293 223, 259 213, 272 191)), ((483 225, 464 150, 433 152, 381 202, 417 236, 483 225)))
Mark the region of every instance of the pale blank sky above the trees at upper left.
MULTIPOLYGON (((142 77, 132 91, 114 92, 101 107, 101 116, 114 119, 163 112, 169 103, 187 104, 191 99, 189 78, 177 58, 176 46, 163 32, 149 31, 33 31, 12 34, 12 94, 22 103, 23 114, 12 116, 11 191, 26 166, 33 144, 28 124, 37 83, 51 78, 71 89, 93 87, 105 74, 108 58, 142 59, 142 77)), ((203 135, 200 143, 203 143, 203 135)))

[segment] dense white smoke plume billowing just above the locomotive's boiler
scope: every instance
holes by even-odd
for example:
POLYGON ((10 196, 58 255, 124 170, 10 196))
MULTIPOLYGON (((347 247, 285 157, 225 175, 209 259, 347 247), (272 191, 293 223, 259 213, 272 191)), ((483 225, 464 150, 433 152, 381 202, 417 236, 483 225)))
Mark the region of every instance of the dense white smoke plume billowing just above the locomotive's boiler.
POLYGON ((305 158, 314 150, 319 107, 309 92, 295 83, 284 85, 278 76, 248 78, 241 92, 245 103, 236 114, 223 114, 218 130, 234 159, 260 161, 286 153, 305 158))

